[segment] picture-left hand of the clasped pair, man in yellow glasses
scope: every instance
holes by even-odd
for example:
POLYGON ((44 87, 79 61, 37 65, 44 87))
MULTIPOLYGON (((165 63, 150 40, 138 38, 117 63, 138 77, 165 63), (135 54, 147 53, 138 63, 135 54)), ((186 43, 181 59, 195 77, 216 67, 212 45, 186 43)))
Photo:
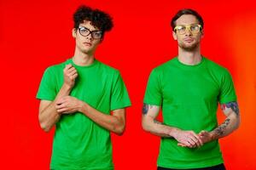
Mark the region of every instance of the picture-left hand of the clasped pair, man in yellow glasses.
POLYGON ((177 129, 177 133, 175 133, 173 137, 177 140, 177 145, 183 147, 195 148, 201 147, 203 144, 199 135, 193 131, 183 131, 177 129))

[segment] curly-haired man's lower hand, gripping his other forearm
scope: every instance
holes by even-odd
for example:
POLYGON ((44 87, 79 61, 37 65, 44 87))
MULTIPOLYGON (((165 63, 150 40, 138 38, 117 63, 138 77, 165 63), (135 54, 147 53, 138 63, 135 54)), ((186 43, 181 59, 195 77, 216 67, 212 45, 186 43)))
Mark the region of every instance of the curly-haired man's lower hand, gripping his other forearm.
POLYGON ((79 111, 82 102, 72 96, 65 96, 56 101, 55 108, 58 113, 61 114, 71 114, 79 111))

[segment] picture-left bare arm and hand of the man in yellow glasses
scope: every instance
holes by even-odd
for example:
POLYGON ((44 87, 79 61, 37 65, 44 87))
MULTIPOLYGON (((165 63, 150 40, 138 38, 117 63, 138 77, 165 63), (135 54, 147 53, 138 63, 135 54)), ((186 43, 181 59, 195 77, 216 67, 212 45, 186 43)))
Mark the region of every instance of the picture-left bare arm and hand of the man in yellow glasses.
POLYGON ((193 131, 183 131, 177 127, 170 127, 155 120, 160 111, 160 106, 143 105, 143 129, 160 137, 173 137, 181 144, 189 147, 201 146, 201 139, 193 131))

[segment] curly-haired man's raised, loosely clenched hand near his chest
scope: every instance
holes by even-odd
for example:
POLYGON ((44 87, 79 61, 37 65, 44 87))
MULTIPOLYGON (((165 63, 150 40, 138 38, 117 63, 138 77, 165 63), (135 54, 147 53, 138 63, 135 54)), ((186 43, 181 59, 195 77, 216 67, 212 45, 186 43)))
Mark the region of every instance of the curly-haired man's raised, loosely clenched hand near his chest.
POLYGON ((64 83, 67 84, 70 88, 73 88, 75 84, 75 79, 78 77, 77 70, 73 67, 73 65, 69 64, 63 70, 64 75, 64 83))

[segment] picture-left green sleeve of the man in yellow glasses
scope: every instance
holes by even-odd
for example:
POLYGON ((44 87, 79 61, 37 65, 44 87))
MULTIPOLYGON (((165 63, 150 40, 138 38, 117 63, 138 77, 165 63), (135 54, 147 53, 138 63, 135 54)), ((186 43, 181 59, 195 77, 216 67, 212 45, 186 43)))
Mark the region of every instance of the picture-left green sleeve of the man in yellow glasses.
POLYGON ((157 71, 153 70, 148 78, 146 93, 143 102, 148 105, 161 105, 162 93, 160 88, 160 75, 157 71))

